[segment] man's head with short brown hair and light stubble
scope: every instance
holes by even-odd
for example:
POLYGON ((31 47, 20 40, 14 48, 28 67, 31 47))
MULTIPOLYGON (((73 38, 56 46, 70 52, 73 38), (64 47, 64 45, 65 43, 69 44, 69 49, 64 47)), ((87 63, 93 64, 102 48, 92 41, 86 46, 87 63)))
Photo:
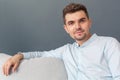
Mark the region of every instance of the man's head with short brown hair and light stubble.
POLYGON ((71 3, 63 9, 64 28, 70 36, 82 44, 90 37, 91 20, 83 4, 71 3))

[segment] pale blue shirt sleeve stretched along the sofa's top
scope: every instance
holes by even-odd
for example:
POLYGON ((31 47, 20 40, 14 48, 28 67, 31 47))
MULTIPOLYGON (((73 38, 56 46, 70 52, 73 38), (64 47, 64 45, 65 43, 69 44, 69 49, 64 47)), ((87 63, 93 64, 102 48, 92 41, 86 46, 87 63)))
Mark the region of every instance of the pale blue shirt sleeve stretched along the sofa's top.
POLYGON ((33 51, 33 52, 23 52, 24 59, 30 59, 35 57, 55 57, 62 59, 62 55, 66 49, 66 45, 50 51, 33 51))

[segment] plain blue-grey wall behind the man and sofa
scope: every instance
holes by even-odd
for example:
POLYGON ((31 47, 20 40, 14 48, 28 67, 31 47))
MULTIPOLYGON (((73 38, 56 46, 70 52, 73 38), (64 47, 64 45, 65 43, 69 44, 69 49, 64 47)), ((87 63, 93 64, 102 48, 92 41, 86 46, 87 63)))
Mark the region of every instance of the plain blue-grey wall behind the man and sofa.
POLYGON ((0 0, 0 52, 13 55, 72 43, 63 29, 62 9, 73 1, 87 6, 92 33, 120 41, 120 0, 0 0))

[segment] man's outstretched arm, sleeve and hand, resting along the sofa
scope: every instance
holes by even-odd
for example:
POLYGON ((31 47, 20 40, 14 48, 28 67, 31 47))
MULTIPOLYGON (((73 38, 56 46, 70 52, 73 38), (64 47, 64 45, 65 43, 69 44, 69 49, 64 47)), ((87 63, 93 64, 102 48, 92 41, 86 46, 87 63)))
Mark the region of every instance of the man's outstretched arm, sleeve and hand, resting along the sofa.
POLYGON ((12 72, 14 72, 18 68, 20 61, 22 59, 30 59, 35 57, 55 57, 55 58, 62 59, 62 54, 64 53, 65 49, 66 49, 66 46, 62 46, 60 48, 57 48, 55 50, 50 50, 50 51, 18 53, 5 62, 5 64, 3 65, 3 73, 7 76, 9 75, 10 69, 12 69, 12 72))

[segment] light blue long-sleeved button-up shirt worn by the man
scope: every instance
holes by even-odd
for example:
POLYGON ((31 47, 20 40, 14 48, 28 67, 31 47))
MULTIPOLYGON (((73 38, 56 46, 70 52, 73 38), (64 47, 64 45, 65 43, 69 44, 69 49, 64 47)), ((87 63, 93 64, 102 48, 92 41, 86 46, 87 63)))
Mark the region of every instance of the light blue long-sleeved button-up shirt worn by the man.
POLYGON ((112 37, 93 34, 79 46, 76 42, 51 51, 25 52, 24 58, 62 59, 68 80, 120 80, 120 43, 112 37))

